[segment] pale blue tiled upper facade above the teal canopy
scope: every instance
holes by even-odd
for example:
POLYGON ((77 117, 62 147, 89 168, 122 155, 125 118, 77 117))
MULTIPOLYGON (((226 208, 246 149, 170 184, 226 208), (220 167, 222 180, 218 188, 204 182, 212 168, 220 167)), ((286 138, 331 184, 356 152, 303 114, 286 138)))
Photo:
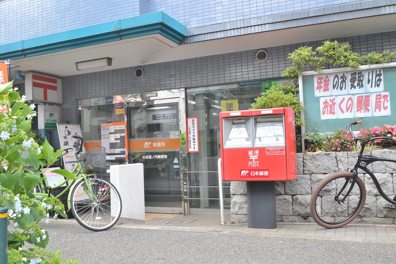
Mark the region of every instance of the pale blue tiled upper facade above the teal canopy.
MULTIPOLYGON (((321 7, 328 7, 328 12, 337 13, 348 9, 392 5, 394 2, 395 0, 2 0, 0 44, 156 11, 163 11, 190 29, 321 7), (334 6, 354 2, 356 5, 347 5, 345 10, 334 6)), ((301 15, 305 17, 309 13, 301 15)), ((320 22, 325 23, 331 19, 333 17, 325 17, 320 22)))

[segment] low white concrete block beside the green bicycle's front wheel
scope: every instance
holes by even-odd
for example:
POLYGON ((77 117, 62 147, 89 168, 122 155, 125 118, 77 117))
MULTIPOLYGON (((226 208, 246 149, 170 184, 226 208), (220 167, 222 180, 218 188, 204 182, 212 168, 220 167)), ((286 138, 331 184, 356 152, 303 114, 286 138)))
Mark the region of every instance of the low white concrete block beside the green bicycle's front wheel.
POLYGON ((143 164, 133 163, 110 166, 110 182, 121 196, 120 221, 126 224, 145 223, 145 188, 143 164))

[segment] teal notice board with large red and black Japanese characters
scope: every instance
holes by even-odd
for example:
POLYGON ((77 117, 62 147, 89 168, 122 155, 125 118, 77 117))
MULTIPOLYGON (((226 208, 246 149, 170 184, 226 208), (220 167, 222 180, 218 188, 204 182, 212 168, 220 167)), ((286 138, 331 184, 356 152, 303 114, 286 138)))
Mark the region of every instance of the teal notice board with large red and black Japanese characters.
POLYGON ((305 110, 302 132, 316 127, 333 132, 362 120, 360 128, 394 124, 396 63, 304 72, 299 77, 300 100, 305 110))

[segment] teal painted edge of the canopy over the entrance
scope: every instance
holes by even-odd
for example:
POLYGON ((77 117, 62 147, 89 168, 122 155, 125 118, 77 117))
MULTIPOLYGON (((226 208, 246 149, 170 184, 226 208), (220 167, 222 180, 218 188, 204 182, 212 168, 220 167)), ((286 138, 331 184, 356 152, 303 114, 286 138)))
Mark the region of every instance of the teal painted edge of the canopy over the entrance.
POLYGON ((160 34, 179 44, 186 27, 164 12, 155 12, 0 45, 0 60, 21 59, 117 40, 160 34))

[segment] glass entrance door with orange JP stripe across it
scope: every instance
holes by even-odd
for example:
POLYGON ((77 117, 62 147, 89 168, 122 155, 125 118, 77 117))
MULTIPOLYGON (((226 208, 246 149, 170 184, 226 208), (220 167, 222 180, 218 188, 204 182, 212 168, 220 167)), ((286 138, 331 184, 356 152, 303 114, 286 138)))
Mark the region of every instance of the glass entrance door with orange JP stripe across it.
POLYGON ((146 212, 181 213, 179 103, 128 107, 128 162, 143 163, 146 212))

